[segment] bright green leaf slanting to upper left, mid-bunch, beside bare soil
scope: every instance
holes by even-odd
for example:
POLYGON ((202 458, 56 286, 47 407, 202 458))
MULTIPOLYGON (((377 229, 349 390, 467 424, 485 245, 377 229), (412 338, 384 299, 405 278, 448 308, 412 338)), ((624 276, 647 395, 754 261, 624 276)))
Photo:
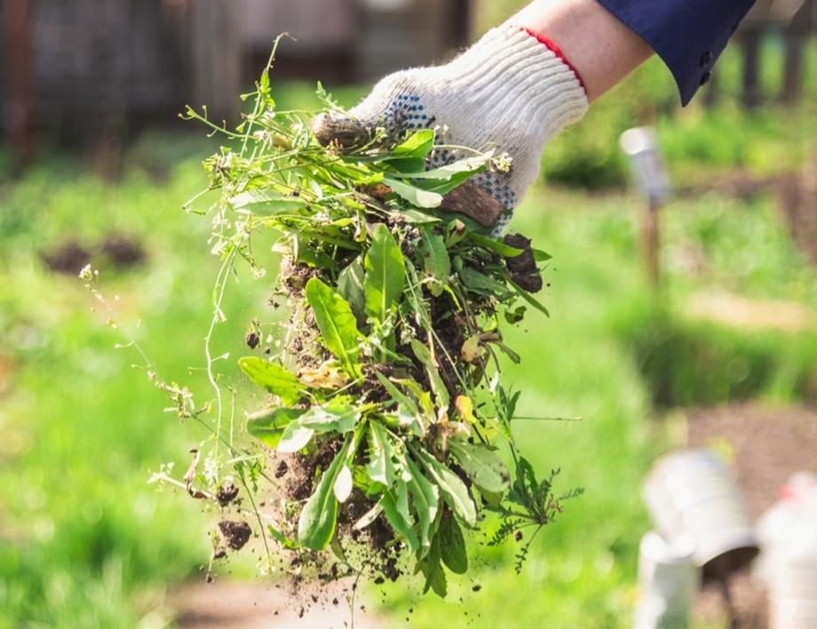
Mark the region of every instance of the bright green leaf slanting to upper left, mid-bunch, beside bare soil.
POLYGON ((346 373, 361 378, 363 373, 357 360, 360 335, 349 302, 316 277, 306 283, 306 301, 315 313, 315 322, 329 351, 337 356, 346 373))

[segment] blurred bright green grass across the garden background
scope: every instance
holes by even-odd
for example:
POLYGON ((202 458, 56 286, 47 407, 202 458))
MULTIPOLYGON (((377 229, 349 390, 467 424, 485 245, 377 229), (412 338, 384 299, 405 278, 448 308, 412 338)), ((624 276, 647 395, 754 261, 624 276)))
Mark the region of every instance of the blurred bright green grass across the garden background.
MULTIPOLYGON (((620 88, 626 99, 605 97, 545 154, 551 181, 603 184, 607 195, 536 188, 512 225, 554 256, 543 293, 551 319, 528 315, 509 338, 523 356, 508 366, 523 392, 520 414, 582 418, 520 421, 518 435, 538 468, 561 468, 558 491, 586 492, 540 533, 520 577, 512 574, 517 548, 477 544, 478 576, 456 585, 449 602, 388 588, 378 607, 390 625, 404 617, 415 627, 629 625, 637 546, 649 527, 639 483, 655 456, 677 445, 651 419, 656 405, 813 394, 813 329, 758 333, 687 311, 690 299, 710 291, 817 307, 814 269, 791 243, 773 196, 710 193, 668 203, 667 284, 656 297, 640 263, 643 202, 624 190, 617 147, 617 134, 643 114, 639 98, 652 98, 655 111, 666 110, 656 123, 678 183, 737 168, 765 176, 805 159, 798 147, 811 131, 797 125, 808 110, 746 114, 727 98, 712 112, 678 113, 664 102, 675 94, 661 72, 645 68, 620 88), (768 163, 747 157, 763 154, 769 141, 778 148, 768 163), (564 174, 553 174, 559 168, 564 174), (736 356, 738 370, 730 368, 736 356)), ((337 96, 351 105, 365 92, 337 96)), ((312 85, 286 84, 274 95, 280 107, 317 107, 312 85)), ((200 162, 214 147, 188 135, 148 135, 125 155, 118 185, 51 156, 23 179, 0 179, 0 470, 9 479, 0 483, 0 628, 163 626, 168 589, 207 561, 212 518, 186 496, 147 486, 148 470, 168 461, 178 477, 206 433, 162 412, 163 394, 145 370, 131 368, 139 355, 114 348, 124 342, 120 331, 91 314, 101 308, 82 283, 47 270, 41 253, 68 240, 92 247, 111 233, 142 243, 147 259, 137 267, 99 259, 101 290, 163 378, 209 399, 202 373, 189 368, 203 364, 218 260, 206 244, 209 220, 180 205, 205 185, 200 162)), ((8 162, 0 151, 0 163, 8 162)), ((218 332, 218 346, 234 357, 268 287, 240 279, 218 332)))

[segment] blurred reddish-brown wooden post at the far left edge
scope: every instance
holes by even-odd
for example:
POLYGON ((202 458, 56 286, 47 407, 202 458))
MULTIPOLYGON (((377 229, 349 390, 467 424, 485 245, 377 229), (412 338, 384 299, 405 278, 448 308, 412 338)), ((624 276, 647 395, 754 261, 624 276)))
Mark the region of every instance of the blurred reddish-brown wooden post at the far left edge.
POLYGON ((8 38, 9 126, 12 149, 18 171, 34 159, 34 62, 31 53, 31 3, 7 0, 6 36, 8 38))

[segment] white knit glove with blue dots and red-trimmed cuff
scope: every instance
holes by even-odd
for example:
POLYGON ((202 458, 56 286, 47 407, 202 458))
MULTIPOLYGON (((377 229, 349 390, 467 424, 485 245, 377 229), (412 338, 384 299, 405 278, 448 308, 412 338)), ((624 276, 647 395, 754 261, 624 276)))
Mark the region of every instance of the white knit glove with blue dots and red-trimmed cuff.
MULTIPOLYGON (((391 137, 437 128, 440 144, 507 153, 510 171, 473 180, 512 211, 539 174, 545 143, 587 110, 579 78, 551 47, 520 28, 494 28, 444 66, 386 76, 349 113, 362 127, 383 127, 391 137)), ((349 122, 322 115, 315 131, 331 139, 349 122)), ((457 156, 435 150, 429 167, 457 156)), ((510 219, 510 213, 501 217, 499 229, 510 219)))

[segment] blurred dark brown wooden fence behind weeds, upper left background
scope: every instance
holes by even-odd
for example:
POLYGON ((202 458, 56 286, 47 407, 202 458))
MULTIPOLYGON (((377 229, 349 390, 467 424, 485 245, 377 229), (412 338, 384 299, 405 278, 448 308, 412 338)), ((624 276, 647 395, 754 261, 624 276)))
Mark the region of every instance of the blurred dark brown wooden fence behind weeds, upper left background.
POLYGON ((369 80, 466 44, 471 4, 3 0, 0 123, 10 133, 25 110, 29 122, 83 139, 174 116, 188 102, 234 119, 242 84, 258 76, 285 31, 297 41, 282 42, 282 76, 369 80))

